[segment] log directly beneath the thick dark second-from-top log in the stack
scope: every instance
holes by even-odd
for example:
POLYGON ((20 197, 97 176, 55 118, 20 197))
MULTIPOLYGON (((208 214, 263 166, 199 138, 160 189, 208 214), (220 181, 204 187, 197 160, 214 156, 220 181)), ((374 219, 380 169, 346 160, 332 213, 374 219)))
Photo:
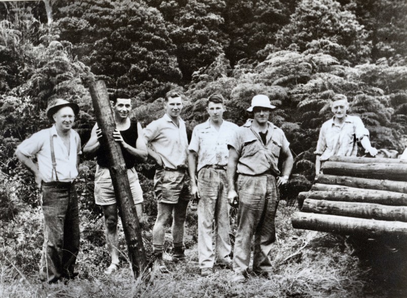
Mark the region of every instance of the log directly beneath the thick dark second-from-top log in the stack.
POLYGON ((359 189, 383 190, 407 194, 407 183, 403 181, 378 180, 349 176, 319 174, 315 182, 322 184, 337 184, 359 189))

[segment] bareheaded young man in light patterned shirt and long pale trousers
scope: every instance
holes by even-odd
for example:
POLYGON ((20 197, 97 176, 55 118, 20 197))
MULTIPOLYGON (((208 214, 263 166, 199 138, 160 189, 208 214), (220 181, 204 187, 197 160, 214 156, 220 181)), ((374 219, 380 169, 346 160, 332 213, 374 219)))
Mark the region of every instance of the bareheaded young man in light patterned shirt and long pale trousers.
POLYGON ((213 273, 215 252, 212 245, 212 222, 215 219, 217 264, 231 267, 229 239, 229 204, 227 201, 227 142, 237 125, 224 121, 223 97, 208 98, 208 121, 193 129, 189 144, 188 168, 191 195, 198 202, 198 257, 202 276, 213 273), (197 161, 197 164, 196 164, 197 161), (198 172, 197 182, 195 179, 198 172))

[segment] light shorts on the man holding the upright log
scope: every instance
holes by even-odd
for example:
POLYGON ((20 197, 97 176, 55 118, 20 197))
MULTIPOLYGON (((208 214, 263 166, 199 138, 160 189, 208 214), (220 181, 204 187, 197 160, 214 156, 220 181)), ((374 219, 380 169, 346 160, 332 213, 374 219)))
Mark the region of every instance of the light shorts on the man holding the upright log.
MULTIPOLYGON (((129 178, 134 204, 143 202, 143 191, 141 190, 139 176, 136 170, 134 168, 127 169, 127 177, 129 178)), ((95 202, 98 205, 111 205, 116 203, 109 169, 99 166, 96 167, 94 194, 95 202)))

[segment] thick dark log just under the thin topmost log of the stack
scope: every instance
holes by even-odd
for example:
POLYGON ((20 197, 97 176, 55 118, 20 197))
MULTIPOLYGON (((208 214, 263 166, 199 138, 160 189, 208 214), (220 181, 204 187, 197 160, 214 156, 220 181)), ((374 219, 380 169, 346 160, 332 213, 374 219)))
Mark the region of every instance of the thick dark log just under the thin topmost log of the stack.
POLYGON ((328 175, 353 176, 371 179, 407 181, 407 164, 354 164, 344 162, 323 163, 322 171, 328 175))

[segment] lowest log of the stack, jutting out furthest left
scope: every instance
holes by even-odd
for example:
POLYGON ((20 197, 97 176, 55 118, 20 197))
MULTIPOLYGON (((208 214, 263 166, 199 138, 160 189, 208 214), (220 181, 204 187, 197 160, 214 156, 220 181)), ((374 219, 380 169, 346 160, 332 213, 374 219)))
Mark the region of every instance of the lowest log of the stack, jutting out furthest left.
POLYGON ((296 212, 291 218, 294 229, 313 230, 372 238, 392 236, 407 238, 407 222, 384 221, 337 215, 296 212))

